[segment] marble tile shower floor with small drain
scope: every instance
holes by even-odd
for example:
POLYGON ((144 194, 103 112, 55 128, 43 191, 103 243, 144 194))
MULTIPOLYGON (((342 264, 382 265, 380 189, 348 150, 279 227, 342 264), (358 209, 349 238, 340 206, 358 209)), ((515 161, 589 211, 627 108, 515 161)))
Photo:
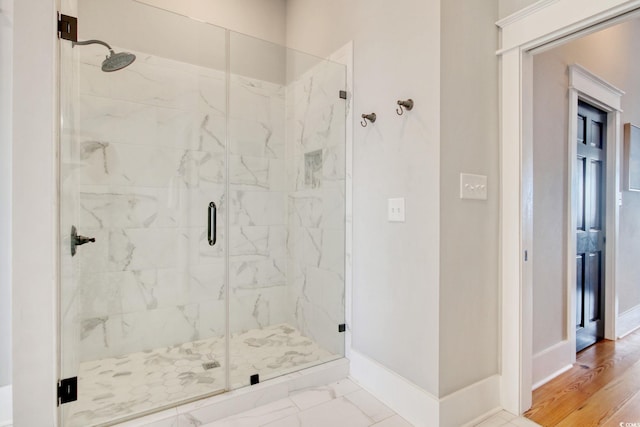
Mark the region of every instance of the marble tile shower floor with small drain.
MULTIPOLYGON (((249 384, 342 357, 288 324, 232 335, 230 384, 249 384)), ((225 340, 210 338, 80 364, 78 400, 65 405, 66 426, 100 426, 225 389, 225 340)))

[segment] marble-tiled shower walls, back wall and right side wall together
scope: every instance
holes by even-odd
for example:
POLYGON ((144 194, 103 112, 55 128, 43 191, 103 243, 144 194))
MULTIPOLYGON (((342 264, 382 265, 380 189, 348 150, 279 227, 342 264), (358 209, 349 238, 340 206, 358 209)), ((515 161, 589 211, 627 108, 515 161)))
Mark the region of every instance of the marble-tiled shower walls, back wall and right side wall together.
POLYGON ((103 73, 103 58, 82 51, 69 168, 76 225, 96 238, 78 249, 82 286, 64 307, 79 360, 224 335, 227 238, 231 332, 289 322, 341 354, 344 70, 320 65, 286 87, 232 75, 227 130, 224 72, 138 54, 103 73))

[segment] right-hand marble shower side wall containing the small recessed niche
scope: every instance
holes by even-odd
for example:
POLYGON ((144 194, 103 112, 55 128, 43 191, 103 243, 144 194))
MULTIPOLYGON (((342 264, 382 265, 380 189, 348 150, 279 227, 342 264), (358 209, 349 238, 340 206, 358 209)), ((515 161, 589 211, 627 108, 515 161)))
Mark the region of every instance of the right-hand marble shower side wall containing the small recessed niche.
POLYGON ((289 323, 344 354, 345 70, 316 65, 287 85, 289 323))

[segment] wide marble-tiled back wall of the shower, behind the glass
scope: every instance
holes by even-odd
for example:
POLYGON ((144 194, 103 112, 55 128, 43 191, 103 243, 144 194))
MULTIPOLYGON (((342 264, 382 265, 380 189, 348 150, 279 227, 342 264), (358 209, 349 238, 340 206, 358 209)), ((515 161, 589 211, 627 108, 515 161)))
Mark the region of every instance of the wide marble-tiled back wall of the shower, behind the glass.
POLYGON ((283 88, 232 78, 227 201, 224 73, 138 54, 107 74, 101 61, 87 54, 80 65, 79 229, 96 237, 79 249, 81 360, 224 335, 226 238, 232 332, 281 322, 283 88), (209 201, 219 207, 213 248, 209 201))

